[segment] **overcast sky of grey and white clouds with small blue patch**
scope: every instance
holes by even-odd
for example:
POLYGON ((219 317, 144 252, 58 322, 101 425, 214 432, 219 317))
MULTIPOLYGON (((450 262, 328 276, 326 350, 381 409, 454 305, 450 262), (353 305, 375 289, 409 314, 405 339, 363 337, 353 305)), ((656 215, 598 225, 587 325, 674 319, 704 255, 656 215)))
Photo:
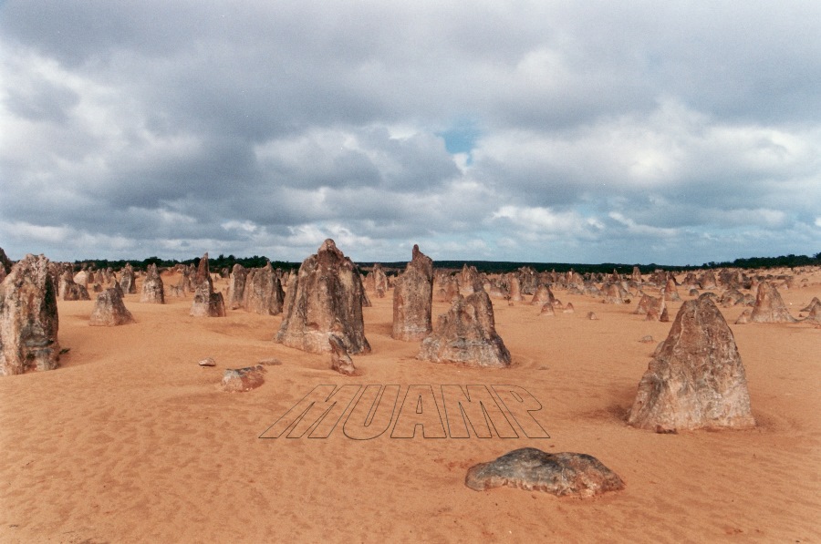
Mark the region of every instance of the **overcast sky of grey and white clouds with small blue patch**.
POLYGON ((821 251, 821 2, 6 0, 0 247, 821 251))

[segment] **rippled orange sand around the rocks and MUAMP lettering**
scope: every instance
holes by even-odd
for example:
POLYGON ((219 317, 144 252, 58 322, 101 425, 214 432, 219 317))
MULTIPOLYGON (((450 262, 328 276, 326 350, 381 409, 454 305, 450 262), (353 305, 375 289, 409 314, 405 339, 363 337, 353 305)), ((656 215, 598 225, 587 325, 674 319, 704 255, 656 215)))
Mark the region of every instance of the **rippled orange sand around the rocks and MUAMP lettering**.
MULTIPOLYGON (((781 290, 795 316, 821 297, 821 272, 800 278, 781 290)), ((821 541, 821 328, 734 325, 743 308, 722 309, 757 428, 658 435, 624 423, 655 348, 639 339, 661 341, 671 324, 633 315, 636 301, 556 291, 576 313, 540 317, 494 300, 514 365, 482 370, 415 360, 418 343, 390 338, 391 293, 371 295, 373 353, 354 356, 352 377, 273 343, 280 316, 193 318, 191 295, 127 295, 138 323, 91 327, 92 302, 60 302, 62 367, 0 378, 0 541, 821 541), (197 365, 207 356, 216 367, 197 365), (220 390, 223 369, 270 357, 282 364, 265 385, 220 390), (441 385, 519 386, 550 437, 355 440, 346 413, 325 438, 260 438, 317 385, 369 384, 400 385, 400 399, 431 385, 437 403, 441 385), (598 457, 627 487, 574 499, 464 486, 468 467, 525 446, 598 457)))

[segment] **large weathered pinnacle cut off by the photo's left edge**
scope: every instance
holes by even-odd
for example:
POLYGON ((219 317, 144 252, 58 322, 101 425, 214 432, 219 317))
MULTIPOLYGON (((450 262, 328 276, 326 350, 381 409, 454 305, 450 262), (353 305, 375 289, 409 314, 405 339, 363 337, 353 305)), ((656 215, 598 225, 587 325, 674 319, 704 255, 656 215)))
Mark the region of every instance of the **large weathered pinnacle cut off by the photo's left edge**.
POLYGON ((0 283, 0 375, 57 368, 54 284, 43 255, 26 255, 0 283))

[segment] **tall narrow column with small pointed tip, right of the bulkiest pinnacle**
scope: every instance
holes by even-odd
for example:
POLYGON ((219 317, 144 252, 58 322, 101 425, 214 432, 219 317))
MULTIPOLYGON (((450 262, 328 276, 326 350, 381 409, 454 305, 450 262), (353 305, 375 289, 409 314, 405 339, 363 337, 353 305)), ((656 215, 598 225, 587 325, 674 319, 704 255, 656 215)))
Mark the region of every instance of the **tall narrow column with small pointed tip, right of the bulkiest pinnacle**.
POLYGON ((391 337, 406 342, 422 340, 433 330, 433 261, 413 246, 411 262, 393 288, 391 337))

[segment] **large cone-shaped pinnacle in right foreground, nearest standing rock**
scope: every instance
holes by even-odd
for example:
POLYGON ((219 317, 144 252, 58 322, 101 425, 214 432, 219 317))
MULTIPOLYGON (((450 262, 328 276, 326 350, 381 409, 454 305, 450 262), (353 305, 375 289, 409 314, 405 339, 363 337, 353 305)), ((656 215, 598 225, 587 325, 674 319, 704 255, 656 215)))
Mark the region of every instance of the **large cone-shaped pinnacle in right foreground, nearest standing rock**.
POLYGON ((681 305, 639 382, 628 423, 657 432, 755 426, 733 332, 709 296, 681 305))

